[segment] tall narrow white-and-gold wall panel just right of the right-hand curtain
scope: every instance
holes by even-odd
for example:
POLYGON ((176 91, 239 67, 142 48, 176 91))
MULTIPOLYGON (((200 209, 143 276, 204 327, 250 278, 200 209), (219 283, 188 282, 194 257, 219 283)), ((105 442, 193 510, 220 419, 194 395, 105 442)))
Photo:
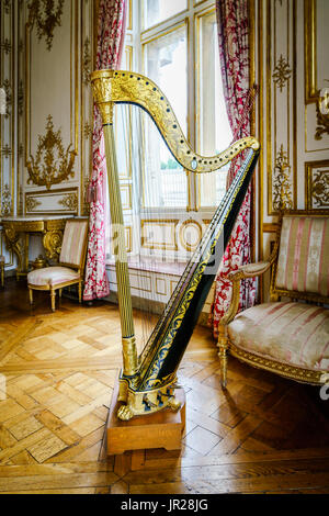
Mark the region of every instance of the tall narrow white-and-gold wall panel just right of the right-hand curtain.
POLYGON ((296 1, 268 2, 268 214, 296 204, 296 1))

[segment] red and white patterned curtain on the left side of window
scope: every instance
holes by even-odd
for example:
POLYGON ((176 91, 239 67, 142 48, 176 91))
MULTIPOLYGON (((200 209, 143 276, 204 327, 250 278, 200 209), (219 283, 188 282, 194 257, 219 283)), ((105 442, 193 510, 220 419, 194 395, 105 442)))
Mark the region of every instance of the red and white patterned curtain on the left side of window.
MULTIPOLYGON (((126 0, 100 0, 97 69, 117 69, 124 44, 126 0)), ((93 169, 89 186, 90 218, 84 300, 110 293, 105 271, 106 162, 102 120, 94 105, 92 135, 93 169)))

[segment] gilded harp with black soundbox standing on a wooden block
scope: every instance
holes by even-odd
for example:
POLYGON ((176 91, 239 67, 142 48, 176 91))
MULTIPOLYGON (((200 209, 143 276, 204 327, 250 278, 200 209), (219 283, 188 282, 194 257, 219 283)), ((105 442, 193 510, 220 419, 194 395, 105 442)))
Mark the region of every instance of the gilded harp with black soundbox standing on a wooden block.
POLYGON ((118 401, 124 402, 117 412, 117 417, 128 420, 135 415, 151 414, 166 407, 179 408, 179 402, 174 397, 177 371, 216 276, 214 260, 216 259, 219 265, 218 260, 222 259, 229 240, 258 160, 260 145, 250 136, 235 142, 217 156, 200 156, 185 139, 168 99, 150 79, 131 71, 100 70, 92 74, 91 81, 94 100, 102 116, 111 218, 117 232, 115 270, 123 350, 118 401), (242 166, 215 211, 197 249, 186 265, 139 356, 134 332, 115 157, 113 133, 115 103, 136 104, 145 110, 156 123, 174 158, 184 169, 192 172, 215 171, 246 150, 242 166))

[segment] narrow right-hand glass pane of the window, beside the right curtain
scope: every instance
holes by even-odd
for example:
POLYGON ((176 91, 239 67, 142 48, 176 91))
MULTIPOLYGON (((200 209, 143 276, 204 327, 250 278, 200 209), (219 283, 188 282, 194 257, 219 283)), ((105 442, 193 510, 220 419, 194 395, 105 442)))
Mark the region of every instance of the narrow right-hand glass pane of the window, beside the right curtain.
MULTIPOLYGON (((198 144, 203 155, 213 156, 227 148, 232 139, 223 92, 215 12, 200 19, 198 31, 198 144)), ((228 166, 200 177, 201 206, 219 203, 226 190, 227 170, 228 166)))

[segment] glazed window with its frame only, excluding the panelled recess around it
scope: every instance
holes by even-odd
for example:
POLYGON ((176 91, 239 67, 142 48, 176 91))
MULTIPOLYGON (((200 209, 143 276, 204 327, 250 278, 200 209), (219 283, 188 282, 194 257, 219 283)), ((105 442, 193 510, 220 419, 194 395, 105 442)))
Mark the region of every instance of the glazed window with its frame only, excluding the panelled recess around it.
MULTIPOLYGON (((219 66, 214 3, 140 0, 141 69, 163 91, 193 148, 212 156, 231 142, 219 66), (196 3, 193 5, 193 3, 196 3), (190 7, 189 7, 190 5, 190 7)), ((198 211, 218 205, 227 169, 186 173, 143 116, 143 207, 198 211)))

